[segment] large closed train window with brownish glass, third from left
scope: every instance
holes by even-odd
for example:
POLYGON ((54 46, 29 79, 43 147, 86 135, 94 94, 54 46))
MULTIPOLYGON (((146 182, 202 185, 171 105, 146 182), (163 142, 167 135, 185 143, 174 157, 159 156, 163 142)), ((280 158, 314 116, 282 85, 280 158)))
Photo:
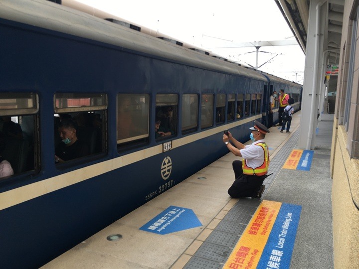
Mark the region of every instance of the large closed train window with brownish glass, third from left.
POLYGON ((120 147, 149 140, 149 95, 117 95, 117 144, 120 147))

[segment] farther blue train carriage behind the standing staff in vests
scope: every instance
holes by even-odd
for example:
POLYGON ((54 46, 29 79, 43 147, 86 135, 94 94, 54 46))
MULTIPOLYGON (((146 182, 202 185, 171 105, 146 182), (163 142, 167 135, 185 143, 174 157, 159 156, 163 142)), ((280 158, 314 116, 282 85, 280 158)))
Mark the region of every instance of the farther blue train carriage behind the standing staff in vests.
MULTIPOLYGON (((293 108, 294 111, 297 112, 301 110, 303 86, 293 81, 288 81, 283 78, 279 78, 277 76, 265 72, 260 72, 260 73, 267 78, 269 85, 268 91, 266 92, 264 97, 265 100, 268 100, 268 102, 266 102, 265 103, 266 106, 263 107, 263 117, 262 117, 262 123, 269 128, 271 127, 268 126, 269 98, 272 95, 272 93, 276 91, 279 95, 279 90, 283 89, 284 92, 287 93, 290 98, 294 99, 293 108)), ((279 108, 279 102, 275 101, 274 109, 273 109, 273 124, 278 124, 279 121, 278 108, 279 108)))

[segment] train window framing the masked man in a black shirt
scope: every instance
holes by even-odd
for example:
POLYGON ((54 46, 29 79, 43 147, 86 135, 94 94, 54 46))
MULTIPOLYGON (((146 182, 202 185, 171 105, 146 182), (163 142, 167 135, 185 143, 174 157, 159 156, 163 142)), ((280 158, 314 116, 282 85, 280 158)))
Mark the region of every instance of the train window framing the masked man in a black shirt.
POLYGON ((106 134, 106 94, 56 93, 54 95, 54 161, 56 163, 106 152, 106 134))

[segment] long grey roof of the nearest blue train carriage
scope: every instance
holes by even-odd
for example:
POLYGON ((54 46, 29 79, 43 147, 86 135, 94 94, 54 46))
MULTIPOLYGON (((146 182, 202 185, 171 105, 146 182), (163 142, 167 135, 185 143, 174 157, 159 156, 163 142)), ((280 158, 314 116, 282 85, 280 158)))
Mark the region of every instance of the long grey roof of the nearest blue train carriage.
POLYGON ((44 0, 1 0, 0 17, 182 64, 267 81, 255 70, 183 48, 105 19, 44 0))

